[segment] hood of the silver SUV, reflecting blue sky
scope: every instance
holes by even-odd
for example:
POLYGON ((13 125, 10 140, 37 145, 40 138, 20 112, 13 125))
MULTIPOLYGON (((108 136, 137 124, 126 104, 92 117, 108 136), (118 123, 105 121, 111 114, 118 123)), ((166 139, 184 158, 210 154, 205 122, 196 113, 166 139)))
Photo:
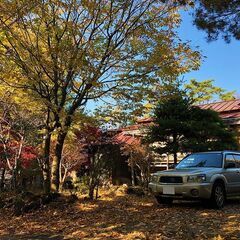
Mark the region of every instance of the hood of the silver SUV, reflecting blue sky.
POLYGON ((206 174, 209 172, 219 172, 220 168, 182 168, 182 169, 171 169, 165 170, 161 172, 157 172, 159 175, 178 175, 178 176, 186 176, 186 175, 195 175, 195 174, 206 174))

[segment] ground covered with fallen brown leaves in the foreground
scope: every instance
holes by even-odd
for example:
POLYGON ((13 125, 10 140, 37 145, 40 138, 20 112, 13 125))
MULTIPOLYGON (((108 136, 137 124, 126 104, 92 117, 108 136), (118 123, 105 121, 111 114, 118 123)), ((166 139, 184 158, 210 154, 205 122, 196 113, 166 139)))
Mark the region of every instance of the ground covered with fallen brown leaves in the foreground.
POLYGON ((20 217, 2 209, 0 239, 240 239, 240 201, 223 210, 196 202, 165 207, 115 189, 98 201, 58 200, 20 217))

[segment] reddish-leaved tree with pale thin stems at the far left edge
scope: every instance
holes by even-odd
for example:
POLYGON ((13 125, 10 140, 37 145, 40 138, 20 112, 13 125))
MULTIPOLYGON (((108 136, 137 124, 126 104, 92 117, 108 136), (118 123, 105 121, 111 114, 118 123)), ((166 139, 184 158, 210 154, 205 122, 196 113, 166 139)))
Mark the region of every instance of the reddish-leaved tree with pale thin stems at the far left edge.
POLYGON ((12 187, 18 186, 18 175, 31 160, 37 158, 35 140, 40 117, 29 110, 23 110, 11 98, 11 93, 0 96, 0 162, 2 168, 1 187, 4 186, 4 175, 7 170, 12 175, 12 187))

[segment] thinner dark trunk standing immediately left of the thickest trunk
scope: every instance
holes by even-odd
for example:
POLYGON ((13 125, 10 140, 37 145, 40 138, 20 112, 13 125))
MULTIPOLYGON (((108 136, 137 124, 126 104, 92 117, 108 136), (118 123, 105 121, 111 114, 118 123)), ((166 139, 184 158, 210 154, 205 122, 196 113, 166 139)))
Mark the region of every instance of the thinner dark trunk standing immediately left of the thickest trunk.
POLYGON ((51 147, 51 134, 47 134, 44 139, 44 162, 43 162, 43 188, 45 194, 50 193, 50 147, 51 147))

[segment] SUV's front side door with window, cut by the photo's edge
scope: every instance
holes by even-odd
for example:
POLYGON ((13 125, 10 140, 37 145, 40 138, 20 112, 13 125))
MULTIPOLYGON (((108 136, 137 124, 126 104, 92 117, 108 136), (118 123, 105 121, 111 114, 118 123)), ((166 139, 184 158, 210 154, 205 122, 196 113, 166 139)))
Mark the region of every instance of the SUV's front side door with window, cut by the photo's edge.
POLYGON ((240 186, 240 169, 233 154, 225 155, 224 166, 225 166, 225 169, 223 174, 227 179, 226 191, 230 195, 236 195, 239 191, 239 186, 240 186))

